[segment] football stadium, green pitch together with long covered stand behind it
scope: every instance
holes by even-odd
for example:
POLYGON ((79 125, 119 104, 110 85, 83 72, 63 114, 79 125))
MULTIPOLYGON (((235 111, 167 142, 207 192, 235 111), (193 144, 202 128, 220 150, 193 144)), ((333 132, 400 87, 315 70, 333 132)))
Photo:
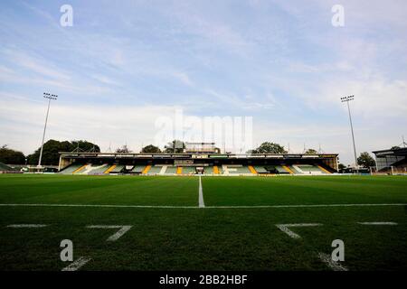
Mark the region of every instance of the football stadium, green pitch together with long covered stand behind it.
POLYGON ((406 269, 404 176, 338 174, 337 154, 203 146, 61 152, 59 172, 0 175, 2 269, 406 269), (69 265, 55 246, 66 238, 69 265), (337 239, 342 262, 331 260, 337 239))

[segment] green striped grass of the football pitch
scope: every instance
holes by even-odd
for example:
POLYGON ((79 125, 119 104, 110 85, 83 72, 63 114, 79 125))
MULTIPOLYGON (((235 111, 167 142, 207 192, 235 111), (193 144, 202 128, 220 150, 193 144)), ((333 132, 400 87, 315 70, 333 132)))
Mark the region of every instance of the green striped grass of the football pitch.
MULTIPOLYGON (((407 203, 405 177, 204 177, 206 206, 407 203)), ((0 175, 0 203, 185 206, 194 209, 0 206, 0 270, 61 270, 69 238, 81 270, 329 270, 317 257, 345 242, 350 270, 407 269, 407 208, 205 208, 198 178, 0 175), (393 221, 397 226, 357 222, 393 221), (6 228, 10 224, 45 228, 6 228), (321 223, 293 228, 276 224, 321 223), (116 229, 131 225, 115 242, 116 229)))

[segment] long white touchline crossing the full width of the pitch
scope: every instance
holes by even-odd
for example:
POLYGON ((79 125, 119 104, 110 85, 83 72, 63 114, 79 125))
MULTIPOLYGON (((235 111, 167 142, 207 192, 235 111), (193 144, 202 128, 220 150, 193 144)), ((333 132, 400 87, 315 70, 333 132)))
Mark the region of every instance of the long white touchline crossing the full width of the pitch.
MULTIPOLYGON (((407 203, 385 204, 320 204, 320 205, 254 205, 254 206, 205 206, 205 209, 285 209, 285 208, 330 208, 330 207, 384 207, 407 206, 407 203)), ((89 208, 140 208, 140 209, 200 209, 199 206, 154 206, 154 205, 97 205, 97 204, 0 204, 0 207, 89 207, 89 208)))

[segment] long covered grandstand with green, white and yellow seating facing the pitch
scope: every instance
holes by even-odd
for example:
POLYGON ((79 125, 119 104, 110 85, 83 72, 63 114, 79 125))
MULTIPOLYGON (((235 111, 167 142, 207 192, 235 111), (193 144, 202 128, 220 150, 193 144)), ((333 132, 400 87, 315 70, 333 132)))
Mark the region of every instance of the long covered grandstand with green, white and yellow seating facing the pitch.
POLYGON ((60 153, 63 174, 326 175, 337 154, 60 153))

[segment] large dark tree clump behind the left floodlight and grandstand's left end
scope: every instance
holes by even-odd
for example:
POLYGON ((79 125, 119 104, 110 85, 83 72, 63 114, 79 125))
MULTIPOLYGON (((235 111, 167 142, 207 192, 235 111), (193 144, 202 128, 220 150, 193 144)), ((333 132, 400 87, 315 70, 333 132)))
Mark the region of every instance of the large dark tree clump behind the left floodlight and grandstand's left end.
MULTIPOLYGON (((100 152, 99 145, 92 144, 87 141, 56 141, 50 139, 43 144, 43 158, 41 164, 44 165, 56 165, 60 162, 60 152, 72 152, 73 150, 80 148, 80 151, 89 152, 93 151, 95 153, 100 152), (79 146, 78 146, 79 144, 79 146)), ((41 147, 39 147, 33 154, 27 156, 29 164, 37 164, 40 158, 41 147)))

